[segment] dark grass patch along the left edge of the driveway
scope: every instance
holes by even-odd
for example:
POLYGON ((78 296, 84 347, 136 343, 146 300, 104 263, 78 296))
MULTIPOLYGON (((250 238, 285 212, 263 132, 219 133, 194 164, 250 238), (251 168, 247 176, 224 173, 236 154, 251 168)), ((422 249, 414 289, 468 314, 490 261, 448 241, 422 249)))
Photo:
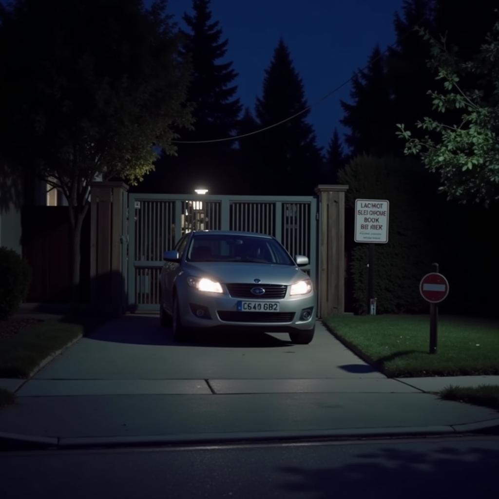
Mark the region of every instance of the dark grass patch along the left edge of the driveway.
POLYGON ((47 320, 0 339, 0 378, 28 378, 50 354, 82 336, 86 324, 47 320))

